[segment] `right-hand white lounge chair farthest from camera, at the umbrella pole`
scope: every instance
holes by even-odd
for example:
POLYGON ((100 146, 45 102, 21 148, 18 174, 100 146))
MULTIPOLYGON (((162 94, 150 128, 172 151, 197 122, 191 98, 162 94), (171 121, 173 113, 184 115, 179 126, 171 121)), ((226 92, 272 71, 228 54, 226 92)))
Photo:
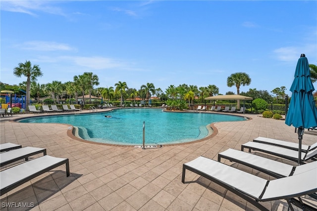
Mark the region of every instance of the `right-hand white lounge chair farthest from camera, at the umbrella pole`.
MULTIPOLYGON (((249 149, 249 152, 251 152, 251 150, 260 151, 280 158, 285 158, 294 162, 298 162, 298 151, 295 150, 257 142, 247 142, 241 145, 241 151, 244 151, 245 148, 249 149)), ((313 159, 315 157, 317 157, 317 149, 302 153, 300 162, 305 163, 305 161, 313 159)))

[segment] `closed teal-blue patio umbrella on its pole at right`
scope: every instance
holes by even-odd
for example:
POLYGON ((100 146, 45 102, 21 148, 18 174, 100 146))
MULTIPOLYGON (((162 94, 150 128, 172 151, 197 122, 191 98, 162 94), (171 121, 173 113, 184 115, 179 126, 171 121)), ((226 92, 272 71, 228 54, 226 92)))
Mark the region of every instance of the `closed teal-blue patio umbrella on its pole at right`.
POLYGON ((313 96, 315 88, 310 76, 308 59, 305 54, 302 54, 298 59, 295 78, 290 88, 292 98, 285 119, 285 124, 298 128, 299 164, 301 163, 304 128, 317 127, 317 108, 313 96))

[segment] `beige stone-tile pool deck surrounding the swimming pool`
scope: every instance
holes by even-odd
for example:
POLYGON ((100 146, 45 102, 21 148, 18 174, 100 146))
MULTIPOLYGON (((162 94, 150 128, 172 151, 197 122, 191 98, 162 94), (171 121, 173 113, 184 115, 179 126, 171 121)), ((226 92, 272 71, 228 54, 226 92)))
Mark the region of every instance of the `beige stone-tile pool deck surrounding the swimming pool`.
MULTIPOLYGON (((251 118, 248 121, 213 124, 216 134, 204 141, 146 150, 81 142, 67 135, 69 126, 64 124, 10 121, 38 115, 1 116, 0 143, 45 148, 50 156, 69 158, 71 174, 66 177, 64 165, 55 168, 2 195, 1 205, 6 202, 16 203, 15 206, 28 203, 29 207, 34 205, 34 211, 257 210, 242 198, 193 172, 186 171, 185 181, 191 182, 183 184, 182 165, 199 156, 217 160, 219 152, 228 148, 240 150, 243 143, 258 136, 298 143, 294 127, 287 126, 284 120, 253 114, 245 115, 251 118)), ((311 145, 316 141, 317 136, 304 134, 303 144, 311 145)), ((296 165, 291 161, 274 159, 296 165)), ((228 160, 225 163, 265 179, 273 179, 243 165, 228 160)), ((261 204, 273 211, 286 211, 288 208, 285 200, 261 204)), ((2 210, 26 208, 1 206, 2 210)))

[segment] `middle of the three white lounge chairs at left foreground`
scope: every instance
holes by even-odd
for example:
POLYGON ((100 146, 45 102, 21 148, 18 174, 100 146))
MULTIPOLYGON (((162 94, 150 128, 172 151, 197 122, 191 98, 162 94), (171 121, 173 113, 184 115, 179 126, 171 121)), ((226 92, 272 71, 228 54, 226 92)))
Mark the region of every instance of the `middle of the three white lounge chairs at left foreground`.
POLYGON ((18 161, 20 159, 25 159, 25 161, 27 161, 29 157, 41 153, 43 153, 43 155, 46 156, 46 149, 36 147, 24 147, 16 150, 11 150, 9 152, 1 153, 0 167, 18 161))

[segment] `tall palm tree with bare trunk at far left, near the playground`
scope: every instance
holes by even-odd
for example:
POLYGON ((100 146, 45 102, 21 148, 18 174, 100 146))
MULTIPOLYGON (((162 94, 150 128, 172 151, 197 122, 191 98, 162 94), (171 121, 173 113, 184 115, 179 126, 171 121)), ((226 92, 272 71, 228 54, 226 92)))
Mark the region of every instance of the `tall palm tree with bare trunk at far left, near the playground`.
POLYGON ((37 77, 43 76, 41 68, 38 64, 32 66, 30 61, 25 63, 19 63, 17 67, 14 67, 13 74, 17 77, 22 75, 26 76, 26 106, 30 103, 31 81, 37 81, 37 77))

